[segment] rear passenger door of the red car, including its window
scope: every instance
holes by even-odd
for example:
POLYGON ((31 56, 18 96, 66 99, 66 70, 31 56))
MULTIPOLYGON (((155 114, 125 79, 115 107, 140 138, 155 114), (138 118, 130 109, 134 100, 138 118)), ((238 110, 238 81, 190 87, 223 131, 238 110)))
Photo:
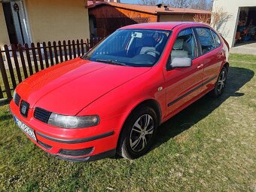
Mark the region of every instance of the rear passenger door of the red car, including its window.
POLYGON ((200 46, 200 59, 203 64, 202 91, 207 92, 215 86, 224 59, 224 50, 220 38, 211 29, 196 27, 194 32, 200 46))

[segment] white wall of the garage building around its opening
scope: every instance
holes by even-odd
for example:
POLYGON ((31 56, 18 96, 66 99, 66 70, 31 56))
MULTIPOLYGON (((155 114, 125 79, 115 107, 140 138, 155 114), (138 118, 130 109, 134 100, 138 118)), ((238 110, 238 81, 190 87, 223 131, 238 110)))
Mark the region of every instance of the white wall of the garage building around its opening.
POLYGON ((232 3, 227 0, 218 0, 213 2, 213 12, 218 11, 219 8, 223 8, 223 10, 227 11, 229 14, 229 17, 225 19, 221 26, 217 27, 217 30, 221 33, 221 35, 224 36, 224 38, 230 44, 230 47, 233 47, 235 43, 236 27, 239 19, 239 8, 254 6, 256 6, 255 0, 233 0, 232 3))

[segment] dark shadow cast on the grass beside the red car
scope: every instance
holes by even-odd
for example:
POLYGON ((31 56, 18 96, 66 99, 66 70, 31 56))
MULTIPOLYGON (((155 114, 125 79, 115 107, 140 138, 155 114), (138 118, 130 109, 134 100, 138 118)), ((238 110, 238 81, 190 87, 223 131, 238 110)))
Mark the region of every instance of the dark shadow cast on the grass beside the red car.
POLYGON ((239 89, 248 81, 251 81, 253 77, 254 72, 250 69, 230 67, 223 95, 216 99, 209 95, 203 96, 203 98, 163 123, 157 130, 156 140, 151 150, 158 148, 169 139, 184 132, 184 130, 190 129, 191 126, 211 114, 215 108, 218 108, 228 98, 244 96, 245 93, 240 93, 239 89))

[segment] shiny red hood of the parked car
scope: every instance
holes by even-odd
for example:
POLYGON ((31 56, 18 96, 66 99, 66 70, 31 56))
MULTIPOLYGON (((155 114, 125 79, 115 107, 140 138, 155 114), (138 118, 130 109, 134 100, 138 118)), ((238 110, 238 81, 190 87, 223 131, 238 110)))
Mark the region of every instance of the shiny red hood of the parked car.
POLYGON ((17 87, 17 93, 29 102, 30 108, 75 115, 99 97, 150 69, 78 58, 32 75, 17 87))

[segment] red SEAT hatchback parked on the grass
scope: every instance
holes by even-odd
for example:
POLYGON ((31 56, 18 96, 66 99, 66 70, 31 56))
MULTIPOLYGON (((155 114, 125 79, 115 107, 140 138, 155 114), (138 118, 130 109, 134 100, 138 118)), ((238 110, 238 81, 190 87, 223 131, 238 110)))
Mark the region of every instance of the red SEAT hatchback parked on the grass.
POLYGON ((228 49, 203 23, 125 26, 23 81, 11 112, 32 142, 63 160, 135 159, 157 126, 206 93, 223 93, 228 49))

